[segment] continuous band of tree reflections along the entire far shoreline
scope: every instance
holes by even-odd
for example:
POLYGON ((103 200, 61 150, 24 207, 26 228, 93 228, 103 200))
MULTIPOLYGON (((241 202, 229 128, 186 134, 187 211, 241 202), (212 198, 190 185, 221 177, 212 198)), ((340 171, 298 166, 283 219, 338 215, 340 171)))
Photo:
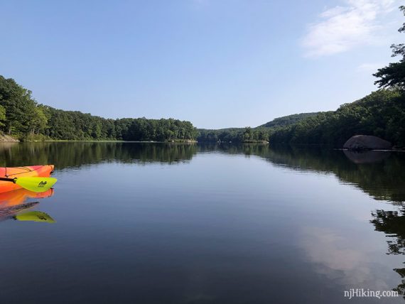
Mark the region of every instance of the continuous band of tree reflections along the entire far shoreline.
POLYGON ((254 143, 13 143, 0 145, 0 166, 53 163, 62 169, 103 162, 173 164, 190 161, 196 153, 210 152, 259 156, 284 168, 333 173, 342 182, 355 185, 376 200, 405 201, 405 170, 402 169, 405 153, 348 153, 349 156, 345 156, 342 151, 330 148, 270 148, 254 143))

